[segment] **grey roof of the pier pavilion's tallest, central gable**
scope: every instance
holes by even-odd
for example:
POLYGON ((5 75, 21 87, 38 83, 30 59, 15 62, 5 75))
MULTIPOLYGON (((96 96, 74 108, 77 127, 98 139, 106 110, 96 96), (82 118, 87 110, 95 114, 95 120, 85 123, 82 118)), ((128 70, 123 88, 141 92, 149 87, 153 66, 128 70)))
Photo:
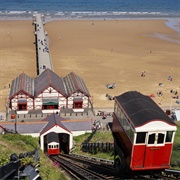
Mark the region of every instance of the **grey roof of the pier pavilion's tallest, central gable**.
POLYGON ((63 79, 50 69, 46 69, 34 79, 35 96, 39 95, 49 86, 56 89, 62 95, 66 95, 63 79))

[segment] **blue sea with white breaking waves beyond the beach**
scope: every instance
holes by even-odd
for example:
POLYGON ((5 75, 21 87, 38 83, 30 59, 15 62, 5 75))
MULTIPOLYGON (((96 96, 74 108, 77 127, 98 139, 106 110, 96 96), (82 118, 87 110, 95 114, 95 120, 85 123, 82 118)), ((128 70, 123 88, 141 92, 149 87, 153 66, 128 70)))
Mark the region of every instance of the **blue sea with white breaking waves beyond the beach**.
POLYGON ((1 19, 179 18, 180 0, 0 0, 1 19))

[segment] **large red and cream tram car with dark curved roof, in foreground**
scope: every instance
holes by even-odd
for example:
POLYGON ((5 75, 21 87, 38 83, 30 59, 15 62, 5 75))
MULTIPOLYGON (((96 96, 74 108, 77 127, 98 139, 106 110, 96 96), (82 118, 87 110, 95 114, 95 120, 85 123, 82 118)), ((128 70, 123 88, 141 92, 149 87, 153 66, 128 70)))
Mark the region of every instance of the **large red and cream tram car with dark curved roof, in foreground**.
POLYGON ((136 91, 115 97, 112 133, 119 171, 170 167, 176 124, 149 97, 136 91))

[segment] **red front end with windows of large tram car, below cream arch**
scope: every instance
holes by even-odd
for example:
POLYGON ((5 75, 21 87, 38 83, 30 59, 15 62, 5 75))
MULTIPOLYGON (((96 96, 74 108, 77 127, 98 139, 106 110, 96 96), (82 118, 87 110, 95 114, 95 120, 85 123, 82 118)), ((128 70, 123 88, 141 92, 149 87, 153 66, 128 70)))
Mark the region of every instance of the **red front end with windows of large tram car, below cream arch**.
POLYGON ((174 131, 139 132, 133 147, 133 170, 170 167, 174 131))

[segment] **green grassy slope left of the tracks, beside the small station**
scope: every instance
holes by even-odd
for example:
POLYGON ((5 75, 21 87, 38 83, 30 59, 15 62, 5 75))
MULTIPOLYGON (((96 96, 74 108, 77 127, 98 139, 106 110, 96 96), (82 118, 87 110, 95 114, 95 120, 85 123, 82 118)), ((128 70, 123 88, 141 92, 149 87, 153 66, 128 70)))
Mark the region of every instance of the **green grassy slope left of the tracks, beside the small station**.
MULTIPOLYGON (((10 155, 15 153, 19 156, 20 153, 33 151, 38 148, 40 156, 40 175, 43 180, 67 180, 65 174, 59 171, 56 164, 48 159, 47 156, 39 149, 39 139, 32 136, 24 136, 18 134, 4 134, 0 136, 0 166, 5 165, 10 160, 10 155)), ((23 158, 21 165, 26 164, 34 165, 35 161, 33 157, 23 158)))

